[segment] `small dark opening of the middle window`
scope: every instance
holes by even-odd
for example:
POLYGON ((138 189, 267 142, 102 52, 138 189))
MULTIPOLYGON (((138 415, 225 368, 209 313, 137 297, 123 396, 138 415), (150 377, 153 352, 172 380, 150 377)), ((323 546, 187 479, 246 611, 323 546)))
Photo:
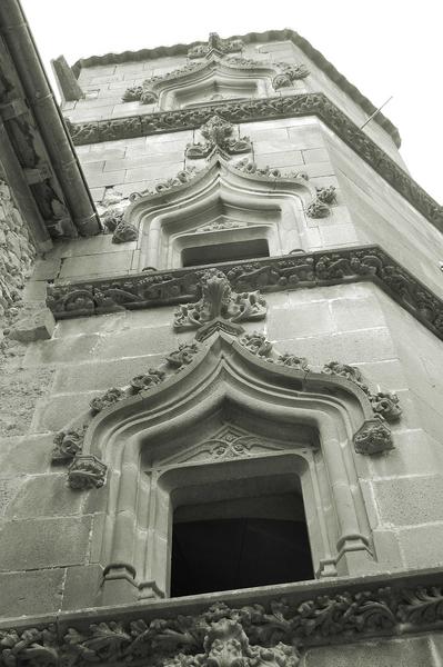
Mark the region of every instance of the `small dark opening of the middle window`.
POLYGON ((214 243, 212 246, 184 248, 181 255, 183 267, 195 267, 199 265, 269 257, 269 246, 265 239, 250 239, 235 243, 214 243))

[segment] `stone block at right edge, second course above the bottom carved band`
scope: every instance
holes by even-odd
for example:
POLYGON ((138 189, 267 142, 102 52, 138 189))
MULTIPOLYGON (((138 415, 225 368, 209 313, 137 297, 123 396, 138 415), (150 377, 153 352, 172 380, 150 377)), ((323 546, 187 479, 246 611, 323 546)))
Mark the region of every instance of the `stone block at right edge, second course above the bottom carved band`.
POLYGON ((383 524, 412 526, 442 521, 443 532, 442 475, 374 480, 372 487, 383 524))

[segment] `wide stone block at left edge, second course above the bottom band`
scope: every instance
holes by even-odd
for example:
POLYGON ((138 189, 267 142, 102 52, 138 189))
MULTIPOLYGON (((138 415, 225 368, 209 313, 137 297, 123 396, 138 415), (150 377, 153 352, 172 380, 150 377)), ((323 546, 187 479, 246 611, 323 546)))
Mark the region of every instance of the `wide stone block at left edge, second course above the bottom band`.
POLYGON ((85 563, 91 517, 10 521, 2 526, 0 570, 32 570, 85 563))

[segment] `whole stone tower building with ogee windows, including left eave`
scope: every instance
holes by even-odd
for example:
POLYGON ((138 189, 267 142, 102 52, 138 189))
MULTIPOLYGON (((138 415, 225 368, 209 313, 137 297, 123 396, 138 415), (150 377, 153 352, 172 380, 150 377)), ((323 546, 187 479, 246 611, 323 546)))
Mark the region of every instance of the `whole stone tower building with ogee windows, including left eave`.
POLYGON ((441 666, 443 210, 396 129, 291 30, 60 58, 64 121, 0 36, 1 665, 441 666))

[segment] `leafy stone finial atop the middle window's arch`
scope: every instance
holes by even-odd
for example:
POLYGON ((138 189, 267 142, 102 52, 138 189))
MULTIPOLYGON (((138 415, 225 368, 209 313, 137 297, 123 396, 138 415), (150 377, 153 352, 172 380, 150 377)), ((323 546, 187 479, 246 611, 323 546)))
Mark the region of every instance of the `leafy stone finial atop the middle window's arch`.
POLYGON ((251 151, 249 137, 233 137, 234 127, 220 116, 212 116, 200 128, 200 132, 205 141, 189 143, 185 151, 188 159, 208 158, 215 149, 220 149, 230 156, 251 151))

